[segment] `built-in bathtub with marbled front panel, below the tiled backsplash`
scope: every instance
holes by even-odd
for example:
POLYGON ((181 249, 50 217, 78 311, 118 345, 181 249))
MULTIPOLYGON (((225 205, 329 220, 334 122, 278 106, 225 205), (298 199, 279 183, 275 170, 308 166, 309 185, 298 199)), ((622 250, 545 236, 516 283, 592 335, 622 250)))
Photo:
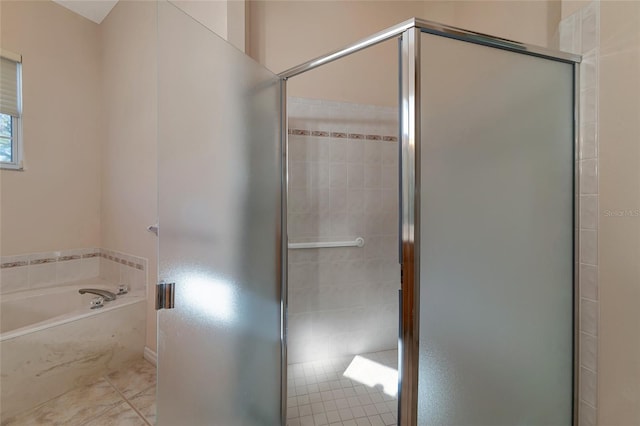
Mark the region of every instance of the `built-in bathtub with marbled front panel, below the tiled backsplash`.
POLYGON ((144 290, 90 309, 95 295, 116 292, 93 279, 0 296, 0 422, 142 357, 144 290))

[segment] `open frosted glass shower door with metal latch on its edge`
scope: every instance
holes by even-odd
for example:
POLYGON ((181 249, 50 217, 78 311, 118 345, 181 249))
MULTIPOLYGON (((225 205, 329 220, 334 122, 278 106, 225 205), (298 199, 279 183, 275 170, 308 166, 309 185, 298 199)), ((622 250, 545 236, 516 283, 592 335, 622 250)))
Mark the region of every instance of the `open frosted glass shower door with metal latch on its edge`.
POLYGON ((281 414, 278 78, 158 3, 159 426, 281 414))

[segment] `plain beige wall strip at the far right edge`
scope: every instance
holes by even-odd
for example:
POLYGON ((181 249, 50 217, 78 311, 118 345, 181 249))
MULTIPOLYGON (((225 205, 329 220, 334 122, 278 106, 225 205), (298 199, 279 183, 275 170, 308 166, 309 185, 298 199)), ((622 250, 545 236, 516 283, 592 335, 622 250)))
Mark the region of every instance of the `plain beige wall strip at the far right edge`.
POLYGON ((598 424, 638 425, 640 2, 600 7, 598 424))

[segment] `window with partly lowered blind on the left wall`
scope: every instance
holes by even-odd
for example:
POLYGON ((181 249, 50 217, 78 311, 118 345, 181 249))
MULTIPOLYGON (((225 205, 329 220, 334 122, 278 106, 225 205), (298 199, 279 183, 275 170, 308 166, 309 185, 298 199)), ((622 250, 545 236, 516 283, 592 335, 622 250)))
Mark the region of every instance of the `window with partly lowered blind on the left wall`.
POLYGON ((0 50, 0 168, 22 169, 22 57, 0 50))

